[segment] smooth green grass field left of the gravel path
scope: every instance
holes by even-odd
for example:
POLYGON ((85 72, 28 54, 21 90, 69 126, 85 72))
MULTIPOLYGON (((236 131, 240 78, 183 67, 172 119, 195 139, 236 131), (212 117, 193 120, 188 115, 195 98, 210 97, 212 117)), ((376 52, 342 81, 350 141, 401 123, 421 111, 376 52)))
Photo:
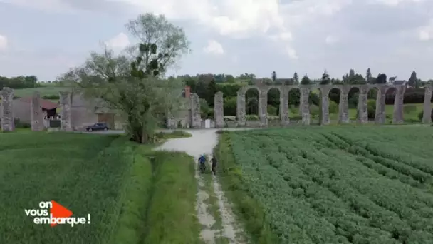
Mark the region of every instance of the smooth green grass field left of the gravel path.
POLYGON ((199 243, 186 154, 155 153, 119 136, 0 137, 0 243, 199 243), (35 225, 24 209, 50 200, 76 217, 90 213, 91 223, 35 225))

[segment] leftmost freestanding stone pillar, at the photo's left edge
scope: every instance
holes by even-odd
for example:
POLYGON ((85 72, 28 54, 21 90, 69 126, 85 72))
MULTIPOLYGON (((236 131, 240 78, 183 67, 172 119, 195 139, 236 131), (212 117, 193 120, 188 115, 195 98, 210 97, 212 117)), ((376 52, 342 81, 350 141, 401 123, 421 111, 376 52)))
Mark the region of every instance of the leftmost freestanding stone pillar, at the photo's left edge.
POLYGON ((1 90, 1 131, 10 132, 15 129, 14 90, 4 87, 1 90))

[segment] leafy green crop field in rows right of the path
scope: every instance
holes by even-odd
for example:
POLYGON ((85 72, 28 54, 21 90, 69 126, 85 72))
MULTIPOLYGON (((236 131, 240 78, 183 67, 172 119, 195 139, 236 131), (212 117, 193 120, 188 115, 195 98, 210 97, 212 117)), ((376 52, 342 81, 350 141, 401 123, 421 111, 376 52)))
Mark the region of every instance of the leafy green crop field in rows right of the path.
POLYGON ((221 183, 255 243, 432 243, 432 127, 223 133, 221 183))

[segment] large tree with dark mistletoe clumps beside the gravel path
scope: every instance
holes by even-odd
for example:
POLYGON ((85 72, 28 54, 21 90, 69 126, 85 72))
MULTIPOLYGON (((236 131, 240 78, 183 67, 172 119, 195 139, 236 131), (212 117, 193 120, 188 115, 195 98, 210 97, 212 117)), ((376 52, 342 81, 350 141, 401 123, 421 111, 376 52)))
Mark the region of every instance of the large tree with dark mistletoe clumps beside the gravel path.
POLYGON ((167 111, 179 106, 182 82, 163 75, 187 54, 189 41, 181 27, 162 15, 140 15, 126 26, 140 40, 127 48, 129 55, 115 55, 109 49, 93 52, 83 66, 63 78, 75 80, 85 97, 121 113, 132 141, 148 143, 167 111))

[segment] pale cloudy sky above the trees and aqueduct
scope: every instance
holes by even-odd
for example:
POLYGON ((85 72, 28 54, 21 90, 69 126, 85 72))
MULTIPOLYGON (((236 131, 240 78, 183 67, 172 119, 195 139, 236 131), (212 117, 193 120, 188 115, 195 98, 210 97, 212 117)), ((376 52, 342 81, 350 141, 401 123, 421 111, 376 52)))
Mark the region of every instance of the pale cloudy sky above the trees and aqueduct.
POLYGON ((0 76, 53 80, 133 43, 125 24, 147 12, 191 41, 169 74, 433 79, 433 0, 0 0, 0 76))

